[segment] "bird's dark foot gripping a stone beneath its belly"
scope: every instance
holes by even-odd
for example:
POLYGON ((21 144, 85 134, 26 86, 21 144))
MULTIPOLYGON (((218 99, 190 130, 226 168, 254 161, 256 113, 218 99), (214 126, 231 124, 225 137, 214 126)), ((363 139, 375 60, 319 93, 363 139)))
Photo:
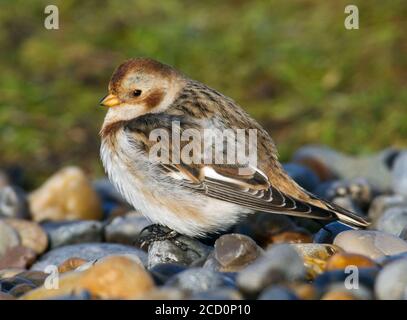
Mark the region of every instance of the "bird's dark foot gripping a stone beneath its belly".
POLYGON ((177 239, 179 236, 181 236, 181 234, 171 230, 170 228, 159 224, 152 224, 141 230, 139 238, 140 248, 143 249, 146 246, 148 248, 150 244, 155 241, 168 240, 181 250, 185 251, 188 249, 188 247, 185 243, 182 243, 177 239), (143 233, 145 233, 145 235, 143 235, 143 233))

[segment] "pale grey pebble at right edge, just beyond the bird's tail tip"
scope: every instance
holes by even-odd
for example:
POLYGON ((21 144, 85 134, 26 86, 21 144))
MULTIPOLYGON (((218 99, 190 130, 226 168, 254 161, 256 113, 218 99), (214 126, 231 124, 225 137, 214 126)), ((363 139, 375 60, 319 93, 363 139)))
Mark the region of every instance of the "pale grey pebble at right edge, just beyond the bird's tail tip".
POLYGON ((375 227, 379 231, 400 236, 404 228, 407 227, 407 206, 387 209, 376 221, 375 227))

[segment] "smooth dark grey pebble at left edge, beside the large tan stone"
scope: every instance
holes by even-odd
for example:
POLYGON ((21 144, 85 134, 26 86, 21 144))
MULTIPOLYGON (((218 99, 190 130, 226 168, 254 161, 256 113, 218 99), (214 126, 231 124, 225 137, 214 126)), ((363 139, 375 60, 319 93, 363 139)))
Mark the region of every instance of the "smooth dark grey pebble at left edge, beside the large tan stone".
POLYGON ((0 217, 27 219, 29 216, 25 192, 16 186, 0 186, 0 217))

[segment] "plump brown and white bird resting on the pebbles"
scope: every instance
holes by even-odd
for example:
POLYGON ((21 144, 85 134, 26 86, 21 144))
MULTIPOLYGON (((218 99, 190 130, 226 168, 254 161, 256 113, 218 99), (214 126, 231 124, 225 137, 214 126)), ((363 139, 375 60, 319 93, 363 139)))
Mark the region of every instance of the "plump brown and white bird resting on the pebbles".
MULTIPOLYGON (((113 72, 100 105, 107 107, 100 130, 105 171, 121 195, 156 225, 197 238, 228 230, 256 212, 339 220, 354 228, 369 225, 298 185, 284 171, 269 133, 237 102, 170 65, 144 57, 126 60, 113 72), (215 148, 191 137, 178 141, 177 134, 188 130, 241 130, 245 137, 254 130, 256 161, 203 161, 208 160, 204 150, 215 148), (195 161, 171 152, 189 143, 195 161), (158 144, 160 152, 153 157, 158 144)), ((248 139, 237 140, 231 144, 239 150, 248 147, 248 139)))

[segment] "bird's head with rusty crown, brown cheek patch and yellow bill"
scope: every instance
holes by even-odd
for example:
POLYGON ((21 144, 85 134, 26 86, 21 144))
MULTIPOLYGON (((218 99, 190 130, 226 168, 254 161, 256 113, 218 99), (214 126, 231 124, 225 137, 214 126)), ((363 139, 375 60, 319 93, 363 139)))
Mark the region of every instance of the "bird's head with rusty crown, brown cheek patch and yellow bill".
POLYGON ((113 73, 104 125, 165 111, 183 87, 184 77, 172 67, 148 58, 125 61, 113 73))

